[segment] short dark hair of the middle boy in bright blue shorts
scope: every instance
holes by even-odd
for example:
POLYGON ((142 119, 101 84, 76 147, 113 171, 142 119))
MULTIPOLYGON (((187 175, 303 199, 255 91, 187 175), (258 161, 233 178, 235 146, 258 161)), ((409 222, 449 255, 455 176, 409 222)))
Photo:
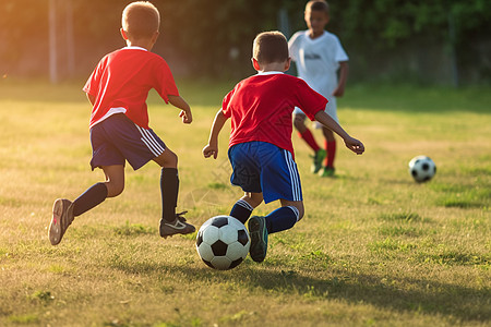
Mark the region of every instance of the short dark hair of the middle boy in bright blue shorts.
POLYGON ((263 32, 254 38, 252 57, 259 63, 283 62, 288 60, 288 41, 280 32, 263 32))

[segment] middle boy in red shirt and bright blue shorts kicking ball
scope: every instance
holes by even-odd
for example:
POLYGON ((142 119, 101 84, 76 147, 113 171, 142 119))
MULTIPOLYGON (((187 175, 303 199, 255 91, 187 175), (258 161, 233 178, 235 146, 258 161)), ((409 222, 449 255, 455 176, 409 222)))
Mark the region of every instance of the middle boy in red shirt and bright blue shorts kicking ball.
POLYGON ((266 256, 267 235, 292 228, 303 217, 302 191, 291 144, 294 108, 301 108, 309 119, 334 131, 354 153, 361 155, 364 147, 324 112, 327 100, 322 95, 302 80, 284 74, 290 66, 290 58, 282 33, 258 35, 252 64, 259 74, 239 82, 224 98, 203 155, 216 159, 218 134, 230 118, 228 156, 233 169, 230 182, 244 191, 230 216, 246 223, 263 199, 265 203, 279 199, 282 204, 265 217, 249 219, 251 258, 262 262, 266 256))

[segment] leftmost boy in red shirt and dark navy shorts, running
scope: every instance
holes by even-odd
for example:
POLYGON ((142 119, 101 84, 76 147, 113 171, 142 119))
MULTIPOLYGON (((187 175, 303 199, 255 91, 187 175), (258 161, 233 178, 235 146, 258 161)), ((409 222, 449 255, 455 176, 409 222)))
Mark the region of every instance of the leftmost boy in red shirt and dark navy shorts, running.
POLYGON ((96 183, 74 202, 55 201, 48 237, 60 243, 74 217, 94 208, 124 189, 124 164, 134 170, 149 160, 161 167, 163 217, 160 235, 187 234, 195 228, 185 222, 184 213, 176 214, 179 192, 178 157, 148 128, 146 98, 155 88, 160 97, 181 109, 179 117, 191 123, 189 105, 179 96, 166 61, 151 52, 158 37, 160 15, 147 1, 127 5, 122 13, 121 36, 127 47, 105 56, 84 86, 93 105, 91 116, 92 169, 101 168, 106 181, 96 183))

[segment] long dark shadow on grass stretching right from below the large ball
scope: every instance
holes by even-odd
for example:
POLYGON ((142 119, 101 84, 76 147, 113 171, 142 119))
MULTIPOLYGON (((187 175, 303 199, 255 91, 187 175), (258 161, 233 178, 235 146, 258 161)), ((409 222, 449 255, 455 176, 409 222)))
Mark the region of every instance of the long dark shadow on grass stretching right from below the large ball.
MULTIPOLYGON (((476 290, 424 278, 394 278, 391 282, 384 282, 380 277, 346 274, 346 271, 334 269, 332 275, 339 277, 316 279, 297 270, 272 270, 271 268, 275 269, 276 264, 266 262, 256 265, 249 258, 240 267, 229 271, 217 271, 206 267, 194 268, 192 265, 169 266, 168 263, 146 263, 144 266, 135 264, 133 272, 167 271, 172 275, 183 275, 188 282, 232 282, 278 294, 298 294, 306 299, 321 301, 344 300, 352 304, 367 303, 398 312, 440 314, 450 319, 464 322, 491 319, 489 289, 476 290), (398 284, 405 284, 407 289, 403 290, 397 287, 398 284)), ((287 267, 287 265, 282 266, 287 267)), ((124 270, 130 272, 128 269, 124 270)))

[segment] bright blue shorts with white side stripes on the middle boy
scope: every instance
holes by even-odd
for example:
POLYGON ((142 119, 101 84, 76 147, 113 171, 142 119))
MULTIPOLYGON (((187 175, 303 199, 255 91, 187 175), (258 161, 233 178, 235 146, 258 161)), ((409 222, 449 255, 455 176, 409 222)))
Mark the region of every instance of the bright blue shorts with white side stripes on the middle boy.
POLYGON ((244 192, 263 193, 265 203, 302 201, 300 175, 290 152, 266 142, 248 142, 228 150, 230 182, 244 192))

